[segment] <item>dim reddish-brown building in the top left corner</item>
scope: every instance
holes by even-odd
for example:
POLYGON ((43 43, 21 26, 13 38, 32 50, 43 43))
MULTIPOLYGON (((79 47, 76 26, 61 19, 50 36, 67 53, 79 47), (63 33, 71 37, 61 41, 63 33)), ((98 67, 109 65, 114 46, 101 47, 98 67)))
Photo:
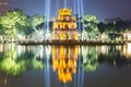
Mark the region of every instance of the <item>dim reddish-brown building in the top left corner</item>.
POLYGON ((0 15, 4 15, 9 10, 8 0, 0 0, 0 15))

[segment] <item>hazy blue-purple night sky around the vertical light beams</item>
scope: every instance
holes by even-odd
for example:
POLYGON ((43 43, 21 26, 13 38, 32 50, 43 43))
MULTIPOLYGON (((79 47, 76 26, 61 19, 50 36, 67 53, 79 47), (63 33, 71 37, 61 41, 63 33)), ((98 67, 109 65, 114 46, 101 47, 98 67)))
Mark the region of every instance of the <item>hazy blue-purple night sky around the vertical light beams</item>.
MULTIPOLYGON (((10 0, 11 9, 22 9, 26 14, 45 13, 46 0, 10 0)), ((73 8, 73 0, 67 0, 68 8, 73 8)), ((84 13, 94 14, 104 18, 131 18, 131 0, 83 0, 84 13)), ((63 8, 63 0, 51 0, 51 17, 56 17, 58 9, 63 8)))

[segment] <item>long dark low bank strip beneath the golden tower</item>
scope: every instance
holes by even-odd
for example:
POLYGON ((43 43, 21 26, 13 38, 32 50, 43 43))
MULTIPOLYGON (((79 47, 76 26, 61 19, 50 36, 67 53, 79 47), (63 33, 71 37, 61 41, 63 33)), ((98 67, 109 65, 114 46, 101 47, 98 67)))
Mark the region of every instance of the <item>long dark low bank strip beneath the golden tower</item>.
POLYGON ((19 45, 23 46, 38 46, 38 45, 50 45, 50 46, 111 46, 111 45, 126 45, 127 41, 19 41, 19 45))

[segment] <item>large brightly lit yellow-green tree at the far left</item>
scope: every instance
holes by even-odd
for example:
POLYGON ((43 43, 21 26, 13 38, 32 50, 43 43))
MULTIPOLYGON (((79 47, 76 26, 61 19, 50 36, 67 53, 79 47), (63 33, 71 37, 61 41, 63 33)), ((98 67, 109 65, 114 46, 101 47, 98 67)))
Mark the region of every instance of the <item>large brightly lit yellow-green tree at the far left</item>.
POLYGON ((4 28, 4 33, 8 37, 16 37, 20 26, 27 26, 27 16, 22 10, 9 10, 8 13, 1 17, 1 25, 4 28))

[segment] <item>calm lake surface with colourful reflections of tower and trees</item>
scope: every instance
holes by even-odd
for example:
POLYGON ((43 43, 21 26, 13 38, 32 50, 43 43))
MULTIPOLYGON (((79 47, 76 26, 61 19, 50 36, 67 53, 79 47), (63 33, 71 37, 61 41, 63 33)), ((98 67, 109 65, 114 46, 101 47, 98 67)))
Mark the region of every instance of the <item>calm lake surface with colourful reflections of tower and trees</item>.
POLYGON ((0 87, 131 87, 131 44, 0 45, 0 87))

